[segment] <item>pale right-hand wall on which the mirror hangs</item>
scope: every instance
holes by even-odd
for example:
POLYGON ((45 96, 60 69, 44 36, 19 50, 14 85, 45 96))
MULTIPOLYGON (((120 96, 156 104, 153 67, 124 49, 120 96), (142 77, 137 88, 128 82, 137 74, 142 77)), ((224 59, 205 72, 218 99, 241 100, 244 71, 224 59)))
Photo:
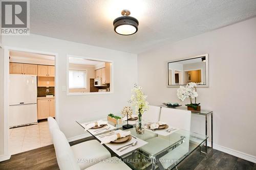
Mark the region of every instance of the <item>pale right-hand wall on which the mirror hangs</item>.
POLYGON ((139 85, 150 104, 179 102, 177 88, 166 87, 166 62, 205 53, 210 86, 198 88, 198 102, 214 111, 214 143, 256 161, 256 18, 139 54, 139 85))

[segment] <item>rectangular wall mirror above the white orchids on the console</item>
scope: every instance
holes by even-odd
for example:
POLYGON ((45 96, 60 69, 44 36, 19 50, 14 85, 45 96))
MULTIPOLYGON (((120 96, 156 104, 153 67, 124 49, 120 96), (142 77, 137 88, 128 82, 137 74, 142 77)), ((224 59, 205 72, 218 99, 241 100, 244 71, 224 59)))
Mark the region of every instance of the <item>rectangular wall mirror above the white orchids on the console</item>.
POLYGON ((178 87, 194 82, 208 87, 208 54, 167 62, 167 86, 178 87))

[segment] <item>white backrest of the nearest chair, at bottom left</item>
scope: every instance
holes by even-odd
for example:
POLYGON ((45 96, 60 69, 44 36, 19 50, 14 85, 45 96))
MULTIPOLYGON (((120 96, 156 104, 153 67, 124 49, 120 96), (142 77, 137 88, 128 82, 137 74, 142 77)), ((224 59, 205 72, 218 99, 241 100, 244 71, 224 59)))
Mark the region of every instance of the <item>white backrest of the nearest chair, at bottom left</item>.
POLYGON ((66 136, 59 129, 53 129, 52 136, 60 170, 80 170, 66 136))

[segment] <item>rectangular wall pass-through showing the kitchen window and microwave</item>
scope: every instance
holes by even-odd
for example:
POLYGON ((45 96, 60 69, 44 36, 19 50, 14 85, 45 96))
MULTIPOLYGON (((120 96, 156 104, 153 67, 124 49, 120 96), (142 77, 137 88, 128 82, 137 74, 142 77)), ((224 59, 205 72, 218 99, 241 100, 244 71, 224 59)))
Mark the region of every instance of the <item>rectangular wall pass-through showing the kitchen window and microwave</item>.
POLYGON ((113 92, 113 62, 68 55, 67 93, 108 94, 113 92))

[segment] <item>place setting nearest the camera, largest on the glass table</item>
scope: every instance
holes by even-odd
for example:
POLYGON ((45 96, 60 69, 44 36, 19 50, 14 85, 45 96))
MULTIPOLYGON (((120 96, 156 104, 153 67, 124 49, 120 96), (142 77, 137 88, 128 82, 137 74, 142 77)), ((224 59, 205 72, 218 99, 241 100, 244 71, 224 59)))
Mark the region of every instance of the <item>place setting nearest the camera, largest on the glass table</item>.
POLYGON ((101 144, 105 144, 119 156, 134 151, 147 143, 131 135, 131 131, 123 130, 116 130, 95 137, 101 141, 101 144))

